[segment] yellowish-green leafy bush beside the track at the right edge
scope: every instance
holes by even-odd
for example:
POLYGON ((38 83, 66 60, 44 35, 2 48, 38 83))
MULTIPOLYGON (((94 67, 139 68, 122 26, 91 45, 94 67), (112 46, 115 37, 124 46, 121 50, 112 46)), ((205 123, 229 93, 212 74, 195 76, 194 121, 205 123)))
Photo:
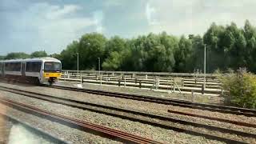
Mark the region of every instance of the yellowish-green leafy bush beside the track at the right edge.
POLYGON ((223 86, 225 102, 233 106, 255 108, 256 77, 246 70, 238 70, 220 78, 223 86))

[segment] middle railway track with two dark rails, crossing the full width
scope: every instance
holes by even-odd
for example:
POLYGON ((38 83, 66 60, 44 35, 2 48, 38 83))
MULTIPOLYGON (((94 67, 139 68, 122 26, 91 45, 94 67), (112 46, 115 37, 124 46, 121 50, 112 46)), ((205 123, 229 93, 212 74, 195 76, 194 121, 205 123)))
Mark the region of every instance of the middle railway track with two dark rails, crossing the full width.
MULTIPOLYGON (((175 123, 179 123, 182 125, 195 126, 195 127, 204 128, 207 130, 217 130, 222 133, 237 134, 241 137, 256 138, 256 134, 250 134, 250 133, 246 133, 246 132, 242 132, 242 131, 238 131, 238 130, 225 129, 225 128, 221 128, 221 127, 217 127, 217 126, 208 126, 208 125, 199 124, 199 123, 195 123, 195 122, 188 122, 185 120, 169 118, 169 117, 157 115, 157 114, 149 114, 149 113, 139 112, 139 111, 135 111, 135 110, 126 110, 126 109, 122 109, 122 108, 118 108, 118 107, 114 107, 114 106, 103 106, 103 105, 94 104, 94 103, 90 103, 90 102, 80 102, 80 101, 76 101, 76 100, 72 100, 72 99, 68 99, 68 98, 58 98, 58 97, 54 97, 51 95, 38 94, 38 93, 31 92, 31 91, 26 91, 26 90, 17 90, 17 89, 13 89, 13 88, 9 88, 9 87, 4 87, 4 86, 0 86, 0 90, 5 90, 5 91, 15 93, 15 94, 22 94, 27 97, 38 98, 38 99, 45 100, 48 102, 54 102, 54 103, 63 104, 66 106, 72 106, 72 107, 79 108, 82 110, 90 110, 90 111, 97 112, 100 114, 107 114, 107 115, 111 115, 111 116, 118 117, 118 118, 129 119, 129 120, 132 120, 135 122, 142 122, 142 123, 149 124, 152 126, 162 127, 167 130, 176 130, 179 132, 185 132, 187 134, 203 136, 205 138, 210 138, 210 139, 214 139, 214 140, 218 140, 218 141, 222 141, 222 142, 233 142, 233 143, 238 142, 239 143, 239 141, 234 140, 234 139, 225 138, 225 137, 216 136, 216 135, 207 134, 207 133, 202 133, 202 132, 198 132, 196 130, 188 130, 188 129, 180 128, 178 126, 172 126, 172 125, 170 125, 170 122, 175 122, 175 123), (155 118, 158 120, 152 121, 151 120, 152 118, 155 118), (169 124, 168 124, 168 122, 169 122, 169 124)), ((232 123, 232 122, 230 122, 230 123, 232 123)), ((249 127, 255 126, 255 125, 250 125, 250 124, 244 123, 244 122, 233 122, 233 124, 234 123, 239 126, 249 126, 249 127)))

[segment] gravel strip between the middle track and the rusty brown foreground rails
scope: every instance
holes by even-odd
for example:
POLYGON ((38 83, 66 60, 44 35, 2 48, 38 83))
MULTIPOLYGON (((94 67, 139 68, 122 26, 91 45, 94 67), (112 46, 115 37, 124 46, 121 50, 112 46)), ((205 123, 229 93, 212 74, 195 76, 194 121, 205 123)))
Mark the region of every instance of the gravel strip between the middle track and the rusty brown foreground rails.
MULTIPOLYGON (((2 92, 3 97, 8 97, 18 102, 24 102, 33 106, 38 106, 44 110, 64 114, 72 118, 78 118, 86 122, 97 123, 102 126, 109 126, 114 129, 123 130, 131 134, 138 134, 142 137, 153 138, 157 141, 167 143, 221 143, 208 140, 203 137, 192 136, 190 134, 178 133, 173 130, 165 130, 159 127, 145 125, 139 122, 131 122, 122 118, 114 118, 105 114, 97 114, 87 110, 79 110, 69 106, 62 106, 50 102, 40 101, 34 98, 27 98, 18 94, 2 92)), ((30 119, 30 118, 26 118, 30 119)), ((105 143, 105 142, 104 142, 105 143)))

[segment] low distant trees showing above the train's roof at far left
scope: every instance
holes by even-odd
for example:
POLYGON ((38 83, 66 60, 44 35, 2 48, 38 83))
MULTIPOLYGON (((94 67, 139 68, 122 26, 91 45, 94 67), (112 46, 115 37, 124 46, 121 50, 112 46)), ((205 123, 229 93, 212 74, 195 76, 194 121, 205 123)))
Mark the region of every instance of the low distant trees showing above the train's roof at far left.
POLYGON ((18 59, 18 58, 23 58, 23 59, 24 58, 40 58, 40 57, 47 57, 47 56, 51 56, 51 55, 48 55, 45 50, 41 50, 41 51, 34 51, 31 54, 18 52, 18 53, 9 53, 6 56, 0 55, 0 60, 1 59, 18 59))

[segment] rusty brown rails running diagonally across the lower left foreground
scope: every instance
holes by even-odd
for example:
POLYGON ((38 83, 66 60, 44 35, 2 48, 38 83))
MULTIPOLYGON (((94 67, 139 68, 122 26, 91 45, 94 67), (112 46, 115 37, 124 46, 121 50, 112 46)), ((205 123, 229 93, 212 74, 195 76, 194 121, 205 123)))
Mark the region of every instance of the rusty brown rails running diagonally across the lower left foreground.
POLYGON ((113 139, 114 141, 125 143, 162 143, 154 141, 149 138, 142 138, 134 134, 127 134, 120 130, 114 130, 105 126, 99 126, 93 123, 83 122, 75 118, 69 118, 61 114, 56 114, 46 110, 38 109, 37 107, 29 106, 21 102, 14 102, 6 98, 0 98, 0 102, 2 102, 5 105, 14 107, 18 110, 25 111, 26 113, 34 114, 41 118, 47 118, 51 121, 59 122, 67 126, 72 126, 79 130, 84 130, 87 132, 90 131, 90 133, 98 134, 101 135, 102 137, 113 139))

